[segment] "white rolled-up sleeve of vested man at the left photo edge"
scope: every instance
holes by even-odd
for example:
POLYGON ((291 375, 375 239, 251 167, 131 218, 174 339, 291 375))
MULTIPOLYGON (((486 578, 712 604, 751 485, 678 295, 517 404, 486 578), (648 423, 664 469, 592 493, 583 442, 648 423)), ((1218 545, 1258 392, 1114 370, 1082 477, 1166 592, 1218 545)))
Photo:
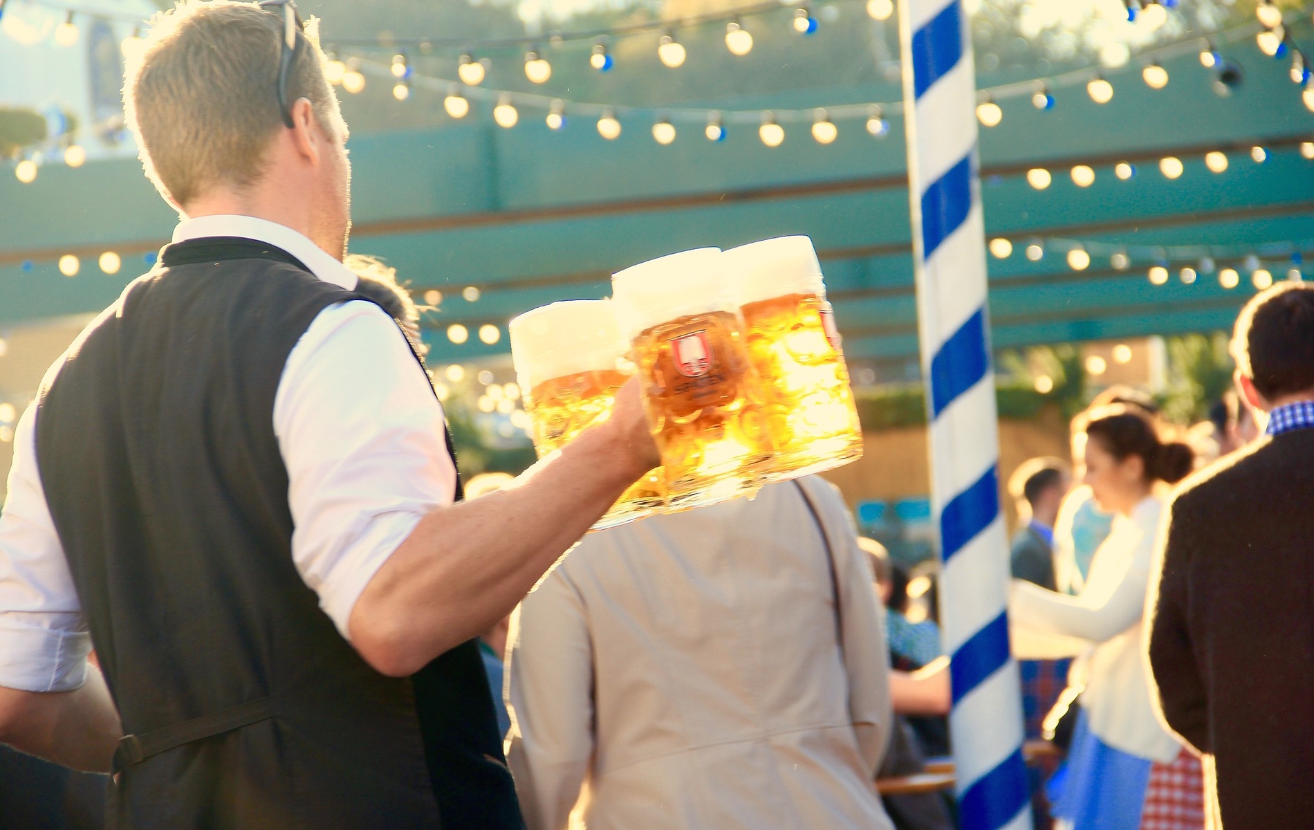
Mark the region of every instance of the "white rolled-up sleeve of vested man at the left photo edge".
POLYGON ((28 407, 0 511, 0 686, 67 692, 85 680, 91 636, 41 489, 35 433, 28 407))

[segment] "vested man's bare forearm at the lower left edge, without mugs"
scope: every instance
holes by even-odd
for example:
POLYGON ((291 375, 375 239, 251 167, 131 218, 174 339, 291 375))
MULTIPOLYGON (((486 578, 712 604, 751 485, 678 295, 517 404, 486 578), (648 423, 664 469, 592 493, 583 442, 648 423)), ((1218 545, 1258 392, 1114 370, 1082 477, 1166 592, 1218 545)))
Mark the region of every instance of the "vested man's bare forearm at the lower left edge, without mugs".
POLYGON ((118 710, 100 670, 72 692, 0 687, 0 742, 64 767, 109 772, 122 737, 118 710))

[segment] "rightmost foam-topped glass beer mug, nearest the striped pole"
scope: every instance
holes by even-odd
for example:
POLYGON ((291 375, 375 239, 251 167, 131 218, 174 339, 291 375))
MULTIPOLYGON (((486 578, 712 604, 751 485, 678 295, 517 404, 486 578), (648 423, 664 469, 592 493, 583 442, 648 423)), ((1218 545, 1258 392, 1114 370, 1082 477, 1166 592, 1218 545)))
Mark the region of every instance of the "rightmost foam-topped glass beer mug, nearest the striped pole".
POLYGON ((777 447, 773 478, 859 458, 862 427, 812 240, 765 239, 721 256, 737 285, 749 359, 762 382, 777 447))

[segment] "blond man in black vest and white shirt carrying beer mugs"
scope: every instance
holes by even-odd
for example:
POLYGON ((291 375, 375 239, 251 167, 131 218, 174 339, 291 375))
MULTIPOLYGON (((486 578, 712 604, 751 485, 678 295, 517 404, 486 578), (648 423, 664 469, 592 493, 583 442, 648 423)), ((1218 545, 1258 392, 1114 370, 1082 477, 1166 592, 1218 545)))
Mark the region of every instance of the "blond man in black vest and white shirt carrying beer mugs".
POLYGON ((455 503, 442 407, 340 261, 322 64, 277 0, 156 20, 124 97, 181 222, 17 429, 0 741, 113 770, 118 827, 520 826, 474 637, 657 462, 631 387, 455 503))

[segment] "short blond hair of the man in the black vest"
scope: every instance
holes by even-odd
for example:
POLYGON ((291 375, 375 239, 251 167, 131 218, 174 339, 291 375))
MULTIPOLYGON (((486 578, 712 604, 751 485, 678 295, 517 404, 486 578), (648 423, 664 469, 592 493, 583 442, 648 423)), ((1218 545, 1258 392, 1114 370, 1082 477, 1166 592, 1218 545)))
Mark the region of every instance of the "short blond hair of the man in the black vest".
MULTIPOLYGON (((155 16, 127 62, 124 109, 142 167, 162 196, 184 206, 206 189, 259 179, 279 112, 281 9, 183 0, 155 16)), ((344 137, 338 96, 311 20, 297 38, 288 101, 309 98, 325 131, 344 137)))

